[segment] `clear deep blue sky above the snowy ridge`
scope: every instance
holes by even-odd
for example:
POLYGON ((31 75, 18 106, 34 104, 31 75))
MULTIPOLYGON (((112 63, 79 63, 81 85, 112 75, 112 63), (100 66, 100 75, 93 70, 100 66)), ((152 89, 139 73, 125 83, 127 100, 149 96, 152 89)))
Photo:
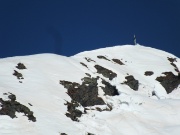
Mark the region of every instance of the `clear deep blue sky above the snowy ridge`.
POLYGON ((180 57, 180 0, 0 0, 0 58, 133 44, 180 57))

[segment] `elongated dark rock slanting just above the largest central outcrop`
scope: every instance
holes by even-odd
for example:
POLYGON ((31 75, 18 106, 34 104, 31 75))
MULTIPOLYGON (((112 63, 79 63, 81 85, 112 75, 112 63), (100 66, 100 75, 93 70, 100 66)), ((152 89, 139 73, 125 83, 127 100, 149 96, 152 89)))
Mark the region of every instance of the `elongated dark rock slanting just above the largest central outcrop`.
POLYGON ((100 65, 95 65, 94 67, 97 69, 97 73, 102 74, 106 78, 109 78, 109 80, 112 80, 113 78, 117 77, 116 73, 100 65))

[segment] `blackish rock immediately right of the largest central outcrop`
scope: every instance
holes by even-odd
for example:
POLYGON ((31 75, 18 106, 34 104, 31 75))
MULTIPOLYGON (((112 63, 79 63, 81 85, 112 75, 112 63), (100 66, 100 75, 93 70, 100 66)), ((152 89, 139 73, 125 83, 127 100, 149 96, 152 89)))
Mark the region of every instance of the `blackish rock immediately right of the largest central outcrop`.
POLYGON ((105 87, 101 87, 105 93, 105 95, 109 96, 116 96, 119 95, 118 90, 115 86, 112 86, 109 82, 106 82, 105 80, 102 80, 102 84, 105 85, 105 87))

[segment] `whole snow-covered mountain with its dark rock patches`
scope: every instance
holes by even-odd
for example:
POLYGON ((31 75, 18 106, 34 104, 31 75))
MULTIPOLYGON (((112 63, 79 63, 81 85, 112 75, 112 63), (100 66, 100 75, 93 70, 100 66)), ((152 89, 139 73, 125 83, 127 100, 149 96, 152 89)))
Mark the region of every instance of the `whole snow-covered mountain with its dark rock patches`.
POLYGON ((0 59, 0 135, 179 135, 180 59, 141 45, 0 59))

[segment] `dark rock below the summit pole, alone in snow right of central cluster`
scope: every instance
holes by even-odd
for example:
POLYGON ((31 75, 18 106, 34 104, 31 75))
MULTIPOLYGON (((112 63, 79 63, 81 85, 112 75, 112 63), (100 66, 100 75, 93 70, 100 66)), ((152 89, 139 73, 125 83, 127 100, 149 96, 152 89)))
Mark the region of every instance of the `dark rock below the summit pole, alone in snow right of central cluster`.
POLYGON ((139 87, 139 81, 136 80, 132 75, 126 76, 125 79, 127 81, 124 82, 124 84, 127 84, 131 89, 137 91, 139 87))

